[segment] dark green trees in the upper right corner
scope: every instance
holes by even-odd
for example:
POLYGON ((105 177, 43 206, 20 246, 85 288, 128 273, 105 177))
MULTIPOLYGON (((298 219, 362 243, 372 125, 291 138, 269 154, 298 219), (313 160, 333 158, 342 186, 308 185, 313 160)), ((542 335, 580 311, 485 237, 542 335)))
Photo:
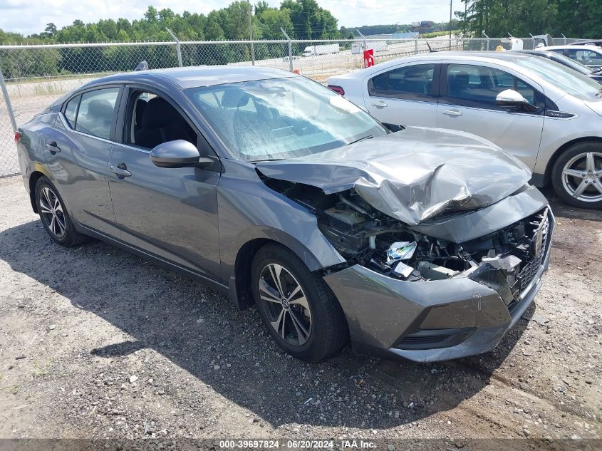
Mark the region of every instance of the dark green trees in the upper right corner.
POLYGON ((551 34, 602 38, 600 0, 462 0, 460 29, 474 37, 551 34))

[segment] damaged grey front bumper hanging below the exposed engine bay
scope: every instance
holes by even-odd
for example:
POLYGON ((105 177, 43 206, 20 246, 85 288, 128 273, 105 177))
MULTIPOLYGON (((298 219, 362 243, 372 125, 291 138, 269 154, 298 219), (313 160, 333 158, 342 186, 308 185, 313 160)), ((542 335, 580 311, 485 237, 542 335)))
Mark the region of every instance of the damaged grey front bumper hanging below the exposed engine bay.
MULTIPOLYGON (((511 286, 474 276, 476 271, 447 280, 403 281, 356 264, 326 275, 346 314, 354 351, 432 362, 492 350, 541 287, 554 232, 554 216, 550 209, 546 214, 546 242, 520 275, 524 284, 512 299, 511 286)), ((489 272, 504 271, 488 266, 489 272)), ((499 280, 508 280, 507 273, 499 280)))

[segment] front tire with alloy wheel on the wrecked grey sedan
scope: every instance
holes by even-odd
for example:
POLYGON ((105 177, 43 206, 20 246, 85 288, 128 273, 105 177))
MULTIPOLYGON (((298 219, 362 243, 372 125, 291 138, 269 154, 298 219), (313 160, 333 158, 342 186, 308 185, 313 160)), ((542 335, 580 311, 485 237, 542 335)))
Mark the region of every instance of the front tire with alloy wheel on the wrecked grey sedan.
POLYGON ((289 249, 277 244, 259 249, 251 277, 261 321, 286 353, 316 362, 346 342, 347 324, 338 301, 289 249))

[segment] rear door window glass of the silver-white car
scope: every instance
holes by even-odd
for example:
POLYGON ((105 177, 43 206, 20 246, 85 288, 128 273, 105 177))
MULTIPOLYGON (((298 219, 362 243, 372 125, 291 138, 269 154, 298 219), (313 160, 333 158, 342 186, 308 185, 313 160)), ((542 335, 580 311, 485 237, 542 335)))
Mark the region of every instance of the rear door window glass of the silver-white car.
POLYGON ((415 64, 378 74, 368 81, 368 93, 378 97, 434 100, 436 64, 415 64))

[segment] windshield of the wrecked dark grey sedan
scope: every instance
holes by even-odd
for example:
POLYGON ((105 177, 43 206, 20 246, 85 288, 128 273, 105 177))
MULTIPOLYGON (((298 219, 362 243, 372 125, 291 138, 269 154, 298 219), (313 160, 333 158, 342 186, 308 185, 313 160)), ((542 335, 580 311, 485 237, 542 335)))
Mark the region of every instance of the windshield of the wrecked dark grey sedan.
POLYGON ((341 95, 298 76, 185 93, 234 157, 247 162, 301 157, 388 133, 341 95))

